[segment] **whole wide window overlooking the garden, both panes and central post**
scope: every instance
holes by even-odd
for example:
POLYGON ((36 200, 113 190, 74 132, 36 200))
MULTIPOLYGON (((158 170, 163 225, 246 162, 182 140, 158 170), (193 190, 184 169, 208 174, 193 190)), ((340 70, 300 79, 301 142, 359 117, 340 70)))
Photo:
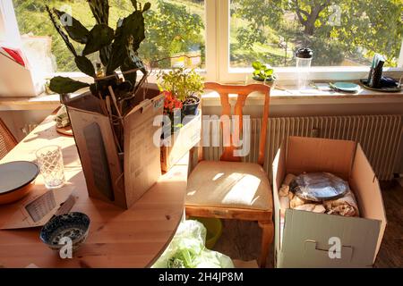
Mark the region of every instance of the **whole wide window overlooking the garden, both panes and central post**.
MULTIPOLYGON (((386 71, 403 70, 401 0, 148 1, 146 40, 139 52, 152 69, 197 66, 206 71, 207 80, 228 82, 245 80, 251 63, 260 60, 275 67, 279 80, 292 81, 296 48, 310 46, 313 80, 363 78, 374 53, 387 57, 386 71)), ((86 0, 4 0, 0 6, 7 3, 13 3, 24 41, 45 46, 42 55, 53 57, 55 71, 77 71, 45 4, 71 12, 91 27, 86 0)), ((109 4, 111 27, 132 11, 131 0, 109 4)), ((97 57, 91 55, 93 63, 99 62, 97 57)))

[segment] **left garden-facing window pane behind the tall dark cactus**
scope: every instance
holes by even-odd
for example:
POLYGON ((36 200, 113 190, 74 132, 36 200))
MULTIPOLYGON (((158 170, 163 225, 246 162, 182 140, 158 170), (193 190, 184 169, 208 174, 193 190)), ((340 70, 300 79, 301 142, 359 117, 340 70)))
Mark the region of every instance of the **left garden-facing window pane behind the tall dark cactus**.
MULTIPOLYGON (((150 2, 151 9, 145 13, 146 40, 141 43, 141 59, 155 68, 204 66, 204 0, 139 0, 150 2), (176 57, 169 59, 169 57, 176 57), (166 60, 159 61, 160 59, 166 60)), ((27 45, 48 46, 56 71, 78 71, 72 53, 64 45, 48 19, 45 4, 67 13, 91 29, 95 20, 87 0, 13 0, 21 37, 27 45), (41 44, 38 45, 38 42, 41 44), (34 44, 32 44, 34 43, 34 44), (44 45, 46 43, 46 45, 44 45)), ((131 0, 109 0, 109 26, 133 12, 131 0)), ((81 53, 83 45, 73 42, 81 53)), ((26 46, 26 44, 24 44, 26 46)), ((88 56, 93 63, 99 62, 98 53, 88 56)))

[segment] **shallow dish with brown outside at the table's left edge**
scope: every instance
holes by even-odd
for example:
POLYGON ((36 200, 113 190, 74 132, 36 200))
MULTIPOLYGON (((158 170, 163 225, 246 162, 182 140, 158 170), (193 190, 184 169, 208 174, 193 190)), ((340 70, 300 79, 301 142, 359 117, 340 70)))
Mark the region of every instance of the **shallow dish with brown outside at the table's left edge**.
POLYGON ((38 174, 39 167, 32 162, 0 164, 0 205, 13 203, 28 195, 38 174))

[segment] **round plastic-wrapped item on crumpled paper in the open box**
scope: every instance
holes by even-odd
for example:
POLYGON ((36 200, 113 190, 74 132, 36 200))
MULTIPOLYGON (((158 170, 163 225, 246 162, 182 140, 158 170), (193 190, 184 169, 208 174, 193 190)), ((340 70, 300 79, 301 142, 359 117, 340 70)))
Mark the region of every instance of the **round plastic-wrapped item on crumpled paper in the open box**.
POLYGON ((290 189, 298 198, 314 202, 340 198, 348 191, 348 183, 330 172, 308 172, 296 176, 290 189))

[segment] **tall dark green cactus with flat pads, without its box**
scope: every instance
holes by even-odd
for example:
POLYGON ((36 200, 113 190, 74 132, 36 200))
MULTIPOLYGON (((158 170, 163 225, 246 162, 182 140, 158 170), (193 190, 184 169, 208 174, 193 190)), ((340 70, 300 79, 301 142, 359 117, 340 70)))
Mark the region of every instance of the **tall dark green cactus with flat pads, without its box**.
POLYGON ((57 32, 63 38, 65 45, 74 56, 77 68, 94 79, 94 83, 72 80, 57 76, 50 80, 49 88, 59 94, 74 92, 80 88, 90 87, 94 95, 104 95, 107 87, 125 92, 135 92, 140 84, 136 84, 137 73, 124 73, 124 83, 120 83, 116 76, 116 69, 121 71, 140 70, 143 73, 142 82, 147 76, 144 64, 137 54, 137 50, 144 36, 143 13, 150 9, 150 3, 141 7, 137 0, 131 0, 134 11, 124 19, 116 23, 116 30, 110 28, 108 0, 88 0, 90 10, 93 14, 96 25, 92 29, 84 27, 80 21, 72 15, 49 8, 46 6, 50 20, 53 22, 57 32), (81 55, 78 54, 71 43, 71 40, 84 45, 81 55), (87 58, 87 55, 99 53, 99 59, 106 71, 104 79, 97 79, 94 65, 87 58))

